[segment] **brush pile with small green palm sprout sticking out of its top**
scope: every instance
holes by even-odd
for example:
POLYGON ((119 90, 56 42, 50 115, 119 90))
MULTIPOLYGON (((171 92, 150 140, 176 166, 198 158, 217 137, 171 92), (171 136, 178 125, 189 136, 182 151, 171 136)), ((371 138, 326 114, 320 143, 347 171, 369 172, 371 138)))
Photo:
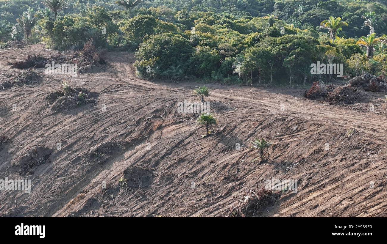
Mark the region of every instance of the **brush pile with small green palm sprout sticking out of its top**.
POLYGON ((62 91, 54 91, 48 94, 45 98, 46 104, 51 107, 54 112, 65 111, 75 108, 81 104, 93 102, 99 94, 97 92, 89 91, 84 88, 71 88, 67 83, 63 83, 62 91))

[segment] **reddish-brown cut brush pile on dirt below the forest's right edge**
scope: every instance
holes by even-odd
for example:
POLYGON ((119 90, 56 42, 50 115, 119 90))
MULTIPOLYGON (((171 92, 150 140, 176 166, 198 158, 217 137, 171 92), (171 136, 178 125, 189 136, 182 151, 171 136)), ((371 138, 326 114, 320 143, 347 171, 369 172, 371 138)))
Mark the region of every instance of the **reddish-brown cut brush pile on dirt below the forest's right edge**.
POLYGON ((316 81, 312 87, 304 92, 304 97, 320 99, 330 104, 353 103, 360 99, 360 91, 350 86, 325 85, 322 81, 316 81))

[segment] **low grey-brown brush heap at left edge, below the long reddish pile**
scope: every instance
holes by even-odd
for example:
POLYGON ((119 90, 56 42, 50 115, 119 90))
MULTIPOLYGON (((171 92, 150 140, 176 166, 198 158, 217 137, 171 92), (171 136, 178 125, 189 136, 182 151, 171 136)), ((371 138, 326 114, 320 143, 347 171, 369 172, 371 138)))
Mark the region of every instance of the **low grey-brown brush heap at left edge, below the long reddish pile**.
POLYGON ((35 69, 23 69, 17 72, 3 73, 5 81, 0 82, 0 88, 11 88, 12 86, 32 85, 41 81, 42 76, 35 69))

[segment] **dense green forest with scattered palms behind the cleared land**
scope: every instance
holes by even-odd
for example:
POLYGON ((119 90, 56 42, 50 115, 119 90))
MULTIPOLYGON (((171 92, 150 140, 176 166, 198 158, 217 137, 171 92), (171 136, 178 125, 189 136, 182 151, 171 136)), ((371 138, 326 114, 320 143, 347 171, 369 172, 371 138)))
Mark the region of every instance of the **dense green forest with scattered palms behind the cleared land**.
POLYGON ((387 0, 0 0, 0 46, 135 51, 139 76, 305 85, 387 73, 387 0), (312 75, 311 64, 344 75, 312 75))

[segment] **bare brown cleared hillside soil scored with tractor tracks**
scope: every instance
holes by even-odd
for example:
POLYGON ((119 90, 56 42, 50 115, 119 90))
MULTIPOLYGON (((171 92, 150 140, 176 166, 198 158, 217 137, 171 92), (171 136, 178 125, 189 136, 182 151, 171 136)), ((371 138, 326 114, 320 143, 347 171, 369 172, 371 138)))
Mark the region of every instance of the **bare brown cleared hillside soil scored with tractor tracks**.
MULTIPOLYGON (((50 51, 1 50, 0 73, 32 53, 50 51)), ((300 89, 205 84, 219 126, 202 138, 198 114, 177 113, 178 102, 200 101, 192 90, 202 83, 141 80, 133 54, 108 59, 104 72, 45 76, 0 91, 0 136, 10 139, 0 145, 0 179, 32 183, 29 194, 0 191, 0 216, 223 217, 272 177, 298 180, 298 192, 278 192, 261 216, 387 216, 383 93, 364 92, 370 102, 337 106, 307 100, 300 89), (63 81, 98 92, 99 101, 53 113, 44 99, 63 81), (369 103, 380 106, 370 112, 369 103), (258 164, 250 141, 261 137, 273 145, 269 161, 258 164), (114 141, 121 146, 87 156, 114 141), (34 146, 51 154, 21 176, 12 164, 34 146), (124 187, 121 177, 128 179, 124 187)))

